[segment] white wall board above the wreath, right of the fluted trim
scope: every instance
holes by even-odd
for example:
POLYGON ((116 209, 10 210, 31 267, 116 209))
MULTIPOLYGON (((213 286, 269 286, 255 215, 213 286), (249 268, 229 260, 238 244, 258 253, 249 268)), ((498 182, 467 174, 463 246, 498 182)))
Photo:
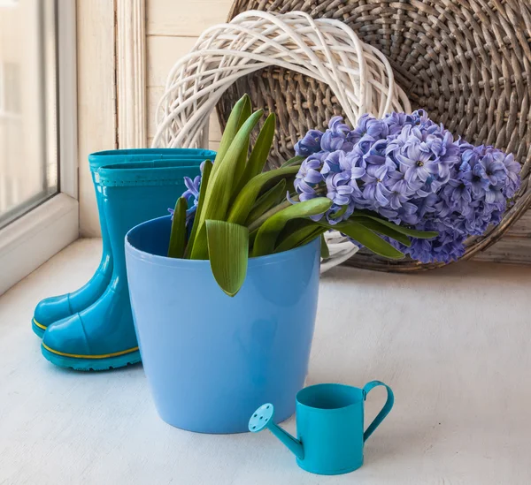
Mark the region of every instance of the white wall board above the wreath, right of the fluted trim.
POLYGON ((198 36, 225 22, 232 0, 147 0, 148 34, 198 36))

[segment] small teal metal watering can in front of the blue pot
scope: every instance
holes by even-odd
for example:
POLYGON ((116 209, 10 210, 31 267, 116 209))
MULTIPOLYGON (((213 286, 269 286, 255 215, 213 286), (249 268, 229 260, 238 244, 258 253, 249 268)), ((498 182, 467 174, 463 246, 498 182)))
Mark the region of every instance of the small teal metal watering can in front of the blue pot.
POLYGON ((306 472, 321 475, 348 474, 363 465, 367 438, 389 414, 395 398, 388 385, 367 383, 363 389, 343 384, 317 384, 296 395, 298 439, 273 422, 272 404, 261 405, 252 414, 249 430, 268 428, 296 456, 306 472), (385 386, 388 398, 364 432, 364 402, 370 390, 385 386))

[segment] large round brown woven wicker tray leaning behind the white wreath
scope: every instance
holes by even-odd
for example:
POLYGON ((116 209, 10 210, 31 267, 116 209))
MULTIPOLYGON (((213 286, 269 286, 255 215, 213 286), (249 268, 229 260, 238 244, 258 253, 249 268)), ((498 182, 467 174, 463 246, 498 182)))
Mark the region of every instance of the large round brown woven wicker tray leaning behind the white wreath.
MULTIPOLYGON (((229 19, 246 10, 306 11, 341 19, 389 58, 413 109, 476 144, 514 153, 522 186, 501 224, 467 241, 467 259, 496 243, 531 205, 531 4, 518 0, 236 0, 229 19)), ((314 127, 323 128, 341 106, 317 80, 268 68, 236 81, 218 105, 221 125, 243 93, 253 106, 279 117, 271 158, 278 165, 314 127)), ((348 264, 366 269, 417 271, 442 266, 385 261, 360 251, 348 264)))

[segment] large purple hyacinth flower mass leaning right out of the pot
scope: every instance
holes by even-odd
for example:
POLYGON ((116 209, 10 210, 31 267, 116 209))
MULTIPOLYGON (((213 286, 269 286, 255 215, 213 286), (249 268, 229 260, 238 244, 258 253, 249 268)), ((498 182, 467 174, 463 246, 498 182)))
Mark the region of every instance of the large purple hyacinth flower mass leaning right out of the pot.
POLYGON ((506 198, 520 185, 512 155, 454 140, 424 110, 383 119, 364 115, 352 131, 334 117, 314 156, 321 179, 297 178, 300 200, 317 197, 318 186, 326 185, 330 224, 366 208, 396 224, 438 231, 435 239, 412 239, 411 248, 390 240, 424 262, 460 257, 468 236, 500 222, 506 198))

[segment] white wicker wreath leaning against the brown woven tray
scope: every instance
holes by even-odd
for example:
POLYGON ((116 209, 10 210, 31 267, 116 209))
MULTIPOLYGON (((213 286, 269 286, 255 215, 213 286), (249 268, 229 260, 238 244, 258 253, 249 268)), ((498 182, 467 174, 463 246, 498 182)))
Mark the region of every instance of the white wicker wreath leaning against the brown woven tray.
MULTIPOLYGON (((209 117, 219 98, 235 80, 271 65, 326 83, 351 125, 364 113, 411 111, 386 57, 341 21, 312 19, 302 11, 245 11, 207 29, 173 66, 158 103, 152 147, 207 147, 209 117)), ((330 259, 321 272, 358 251, 337 232, 327 234, 327 243, 330 259)))

